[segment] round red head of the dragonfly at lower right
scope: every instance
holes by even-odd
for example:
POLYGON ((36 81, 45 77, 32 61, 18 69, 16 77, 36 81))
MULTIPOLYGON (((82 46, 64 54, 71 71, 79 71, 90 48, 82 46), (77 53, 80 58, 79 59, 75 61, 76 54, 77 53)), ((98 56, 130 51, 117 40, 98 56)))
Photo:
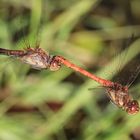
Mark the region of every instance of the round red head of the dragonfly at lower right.
POLYGON ((139 104, 136 100, 130 100, 126 105, 126 112, 128 114, 136 114, 140 110, 139 104))

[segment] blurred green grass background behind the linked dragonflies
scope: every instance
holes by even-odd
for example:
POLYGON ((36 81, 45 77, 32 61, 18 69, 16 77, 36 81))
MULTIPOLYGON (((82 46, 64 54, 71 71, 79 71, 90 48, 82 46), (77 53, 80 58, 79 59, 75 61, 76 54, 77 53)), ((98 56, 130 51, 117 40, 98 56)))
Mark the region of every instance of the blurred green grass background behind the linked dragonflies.
MULTIPOLYGON (((140 53, 139 7, 139 0, 0 0, 0 47, 39 43, 113 79, 140 53)), ((132 91, 140 101, 139 76, 132 91)), ((111 104, 97 83, 66 67, 38 71, 0 56, 0 140, 121 139, 140 140, 140 113, 111 104)))

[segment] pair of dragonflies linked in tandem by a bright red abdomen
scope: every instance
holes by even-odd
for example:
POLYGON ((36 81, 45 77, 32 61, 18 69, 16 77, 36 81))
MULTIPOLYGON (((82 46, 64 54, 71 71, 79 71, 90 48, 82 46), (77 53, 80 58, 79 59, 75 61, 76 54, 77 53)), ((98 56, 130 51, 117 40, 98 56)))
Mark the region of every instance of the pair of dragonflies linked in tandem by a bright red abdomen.
POLYGON ((13 56, 20 61, 31 65, 33 68, 40 70, 49 68, 52 71, 56 71, 59 70, 63 64, 105 87, 111 101, 118 107, 125 110, 128 114, 136 114, 140 110, 138 102, 129 95, 128 86, 123 86, 120 83, 97 77, 96 75, 91 74, 90 72, 71 63, 62 56, 49 55, 39 46, 36 48, 27 47, 25 50, 8 50, 0 48, 0 54, 13 56))

